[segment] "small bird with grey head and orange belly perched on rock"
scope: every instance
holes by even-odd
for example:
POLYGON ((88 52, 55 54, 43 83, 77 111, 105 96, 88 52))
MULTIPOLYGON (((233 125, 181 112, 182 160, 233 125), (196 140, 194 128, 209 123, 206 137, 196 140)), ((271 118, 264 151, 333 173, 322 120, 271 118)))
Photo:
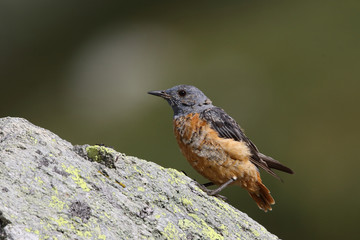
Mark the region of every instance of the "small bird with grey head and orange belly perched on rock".
POLYGON ((240 125, 198 88, 177 85, 148 94, 165 99, 172 107, 173 130, 182 154, 198 173, 210 180, 206 186, 219 186, 207 189, 209 195, 238 185, 248 191, 260 209, 272 210, 275 200, 262 183, 259 168, 279 180, 272 169, 289 174, 293 170, 260 153, 240 125))

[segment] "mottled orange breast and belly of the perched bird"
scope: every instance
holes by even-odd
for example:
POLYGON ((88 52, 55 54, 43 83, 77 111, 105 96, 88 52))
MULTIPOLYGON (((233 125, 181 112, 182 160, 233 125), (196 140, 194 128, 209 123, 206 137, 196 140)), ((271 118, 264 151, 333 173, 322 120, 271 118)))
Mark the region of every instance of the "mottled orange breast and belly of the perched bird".
POLYGON ((174 119, 174 133, 181 152, 191 166, 215 184, 236 176, 244 187, 257 179, 244 142, 220 138, 198 113, 174 119))

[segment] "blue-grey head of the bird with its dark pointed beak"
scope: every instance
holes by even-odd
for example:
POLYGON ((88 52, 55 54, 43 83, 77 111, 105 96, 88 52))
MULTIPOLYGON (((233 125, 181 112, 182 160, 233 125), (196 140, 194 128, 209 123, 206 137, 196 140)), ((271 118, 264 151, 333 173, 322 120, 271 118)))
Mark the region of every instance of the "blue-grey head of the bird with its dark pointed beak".
POLYGON ((210 99, 203 92, 190 85, 178 85, 166 90, 148 93, 166 99, 174 110, 175 118, 189 113, 200 113, 213 107, 210 99))

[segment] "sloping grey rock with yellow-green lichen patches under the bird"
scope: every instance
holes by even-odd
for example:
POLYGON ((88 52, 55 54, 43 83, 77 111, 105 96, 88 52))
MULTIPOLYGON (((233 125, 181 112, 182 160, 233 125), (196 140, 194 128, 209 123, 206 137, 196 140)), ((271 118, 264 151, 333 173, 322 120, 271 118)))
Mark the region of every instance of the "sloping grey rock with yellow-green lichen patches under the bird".
POLYGON ((0 239, 278 239, 183 173, 0 118, 0 239))

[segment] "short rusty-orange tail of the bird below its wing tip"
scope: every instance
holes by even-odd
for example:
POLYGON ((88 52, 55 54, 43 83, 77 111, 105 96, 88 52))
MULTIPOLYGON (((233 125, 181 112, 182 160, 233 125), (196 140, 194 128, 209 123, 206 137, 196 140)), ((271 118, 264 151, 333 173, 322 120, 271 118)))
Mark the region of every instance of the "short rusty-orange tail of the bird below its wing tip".
POLYGON ((255 191, 249 191, 250 196, 258 207, 265 212, 268 210, 272 210, 271 205, 275 204, 275 200, 270 195, 269 189, 265 187, 265 185, 261 182, 260 175, 258 174, 258 181, 256 182, 257 187, 255 191))

